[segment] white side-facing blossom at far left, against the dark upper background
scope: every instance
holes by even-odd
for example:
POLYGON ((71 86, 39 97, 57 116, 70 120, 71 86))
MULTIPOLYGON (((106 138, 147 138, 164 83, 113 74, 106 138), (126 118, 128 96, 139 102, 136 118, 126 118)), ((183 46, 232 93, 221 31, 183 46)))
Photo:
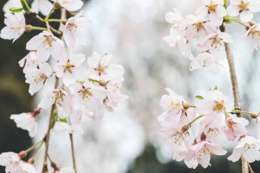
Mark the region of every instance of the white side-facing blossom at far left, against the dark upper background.
POLYGON ((25 16, 23 12, 5 13, 4 23, 6 27, 1 29, 0 37, 7 40, 17 40, 25 31, 25 16))

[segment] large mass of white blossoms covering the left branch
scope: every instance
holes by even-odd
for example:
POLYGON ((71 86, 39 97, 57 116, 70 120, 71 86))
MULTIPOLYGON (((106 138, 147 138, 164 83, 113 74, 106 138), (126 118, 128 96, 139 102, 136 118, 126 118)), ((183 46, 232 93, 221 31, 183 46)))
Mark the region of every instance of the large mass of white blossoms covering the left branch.
MULTIPOLYGON (((54 3, 34 0, 29 8, 24 0, 9 0, 3 8, 6 26, 1 29, 1 38, 14 42, 25 31, 41 31, 27 42, 26 49, 29 53, 18 62, 23 68, 25 82, 29 84, 29 94, 38 93, 41 101, 34 111, 10 117, 17 127, 27 130, 30 137, 37 134, 37 116, 41 109, 52 109, 49 124, 51 133, 82 133, 81 126, 84 121, 93 115, 102 118, 105 109, 114 111, 114 107, 128 97, 120 93, 124 68, 112 63, 112 54, 100 55, 93 52, 92 55, 86 56, 83 53, 72 53, 76 45, 86 43, 86 31, 92 24, 89 18, 83 16, 82 11, 74 13, 80 10, 82 5, 81 0, 55 0, 54 3), (66 10, 71 16, 68 19, 50 18, 58 8, 66 10), (40 18, 38 13, 46 16, 42 19, 46 27, 27 25, 25 12, 37 18, 40 18), (50 25, 51 22, 59 22, 62 29, 54 29, 50 25)), ((28 162, 22 159, 27 152, 40 148, 44 142, 46 143, 46 137, 18 154, 2 153, 0 165, 5 166, 5 172, 36 172, 32 164, 37 153, 28 162)), ((55 172, 74 172, 71 168, 54 165, 51 161, 55 172)))

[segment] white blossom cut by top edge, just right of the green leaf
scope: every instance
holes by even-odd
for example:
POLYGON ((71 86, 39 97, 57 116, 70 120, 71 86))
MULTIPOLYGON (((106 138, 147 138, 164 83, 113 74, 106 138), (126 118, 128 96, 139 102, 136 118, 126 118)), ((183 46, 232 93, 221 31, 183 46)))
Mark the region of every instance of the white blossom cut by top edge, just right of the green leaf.
POLYGON ((40 12, 44 16, 49 14, 52 7, 52 3, 48 0, 34 0, 31 3, 31 10, 36 13, 40 12))

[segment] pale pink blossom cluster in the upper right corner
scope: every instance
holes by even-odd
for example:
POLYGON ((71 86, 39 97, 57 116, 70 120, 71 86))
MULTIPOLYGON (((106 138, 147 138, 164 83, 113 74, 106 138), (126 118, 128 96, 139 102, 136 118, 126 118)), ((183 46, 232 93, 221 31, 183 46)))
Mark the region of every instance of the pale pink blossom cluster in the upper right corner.
POLYGON ((164 40, 191 60, 190 70, 207 68, 213 73, 220 71, 226 59, 224 44, 233 42, 232 37, 222 30, 223 23, 233 21, 243 25, 247 32, 242 38, 250 53, 260 46, 260 25, 251 21, 253 13, 260 12, 260 1, 231 0, 229 5, 227 3, 226 0, 205 0, 196 14, 183 16, 177 9, 166 14, 165 19, 172 27, 164 40), (193 42, 199 51, 196 56, 190 48, 193 42))

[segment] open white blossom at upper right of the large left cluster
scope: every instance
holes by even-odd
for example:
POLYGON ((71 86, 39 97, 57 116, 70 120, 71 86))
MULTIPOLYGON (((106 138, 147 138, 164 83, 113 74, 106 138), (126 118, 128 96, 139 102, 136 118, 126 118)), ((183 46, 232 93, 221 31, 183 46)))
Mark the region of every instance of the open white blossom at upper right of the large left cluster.
POLYGON ((109 81, 118 77, 118 81, 123 81, 124 68, 118 64, 111 64, 112 54, 99 55, 93 52, 88 57, 88 66, 91 79, 109 81))

